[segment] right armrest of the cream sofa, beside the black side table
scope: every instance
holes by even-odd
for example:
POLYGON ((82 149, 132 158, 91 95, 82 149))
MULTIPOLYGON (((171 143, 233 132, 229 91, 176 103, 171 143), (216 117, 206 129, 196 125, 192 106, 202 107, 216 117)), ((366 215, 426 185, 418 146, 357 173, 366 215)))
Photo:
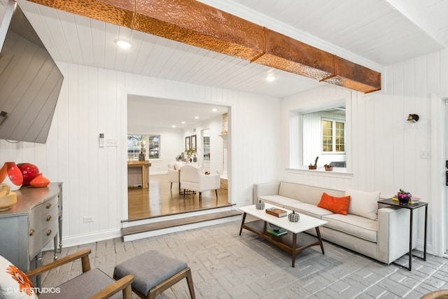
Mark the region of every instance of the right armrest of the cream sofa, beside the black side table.
MULTIPOLYGON (((409 209, 387 206, 378 209, 378 260, 392 263, 409 252, 409 209)), ((412 222, 412 248, 416 247, 418 213, 412 222)))

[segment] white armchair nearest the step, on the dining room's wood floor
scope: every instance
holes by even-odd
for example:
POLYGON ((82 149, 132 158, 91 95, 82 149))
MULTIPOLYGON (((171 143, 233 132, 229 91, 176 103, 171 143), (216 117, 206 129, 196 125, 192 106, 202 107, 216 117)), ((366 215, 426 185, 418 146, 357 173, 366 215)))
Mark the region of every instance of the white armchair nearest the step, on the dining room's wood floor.
POLYGON ((221 177, 219 174, 203 174, 200 167, 195 165, 185 165, 180 172, 181 188, 183 197, 186 190, 197 191, 199 201, 202 201, 202 191, 215 190, 216 200, 218 200, 218 189, 221 188, 221 177))

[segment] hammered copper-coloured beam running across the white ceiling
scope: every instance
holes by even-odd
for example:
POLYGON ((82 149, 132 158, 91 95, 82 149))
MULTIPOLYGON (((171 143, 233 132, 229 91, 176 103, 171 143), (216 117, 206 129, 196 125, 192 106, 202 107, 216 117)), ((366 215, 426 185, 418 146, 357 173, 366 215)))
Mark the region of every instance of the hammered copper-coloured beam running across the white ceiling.
POLYGON ((28 0, 360 92, 381 74, 195 0, 28 0))

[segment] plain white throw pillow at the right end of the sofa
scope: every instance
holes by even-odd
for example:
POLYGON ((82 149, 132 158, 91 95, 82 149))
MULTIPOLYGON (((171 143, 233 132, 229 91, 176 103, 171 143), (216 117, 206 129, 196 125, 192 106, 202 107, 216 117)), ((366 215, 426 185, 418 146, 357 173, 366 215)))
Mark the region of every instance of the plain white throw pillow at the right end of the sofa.
POLYGON ((349 214, 377 219, 379 192, 366 192, 347 188, 345 195, 350 195, 349 214))

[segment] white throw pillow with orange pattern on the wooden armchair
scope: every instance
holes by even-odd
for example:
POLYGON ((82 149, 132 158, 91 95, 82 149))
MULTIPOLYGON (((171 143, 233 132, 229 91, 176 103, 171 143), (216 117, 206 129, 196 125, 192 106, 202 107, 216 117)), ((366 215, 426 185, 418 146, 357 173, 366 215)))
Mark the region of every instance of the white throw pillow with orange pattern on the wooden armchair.
POLYGON ((37 298, 27 275, 0 256, 0 298, 37 298))

